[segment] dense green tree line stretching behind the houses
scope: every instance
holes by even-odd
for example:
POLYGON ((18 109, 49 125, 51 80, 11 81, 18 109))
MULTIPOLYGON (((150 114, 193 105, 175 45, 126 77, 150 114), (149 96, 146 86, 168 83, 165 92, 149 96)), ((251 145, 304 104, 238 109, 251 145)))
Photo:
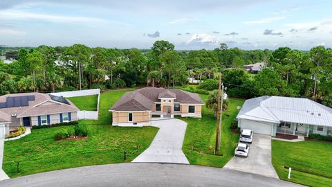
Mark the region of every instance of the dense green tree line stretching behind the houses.
POLYGON ((245 51, 228 48, 226 44, 214 50, 176 51, 174 48, 174 44, 163 40, 145 50, 89 48, 82 44, 5 48, 5 54, 16 60, 11 64, 0 61, 1 94, 176 87, 187 84, 188 78, 205 80, 201 89, 210 89, 216 83, 216 73, 221 71, 230 96, 304 96, 331 106, 331 48, 245 51), (256 62, 265 62, 266 68, 257 75, 243 70, 244 64, 256 62))

